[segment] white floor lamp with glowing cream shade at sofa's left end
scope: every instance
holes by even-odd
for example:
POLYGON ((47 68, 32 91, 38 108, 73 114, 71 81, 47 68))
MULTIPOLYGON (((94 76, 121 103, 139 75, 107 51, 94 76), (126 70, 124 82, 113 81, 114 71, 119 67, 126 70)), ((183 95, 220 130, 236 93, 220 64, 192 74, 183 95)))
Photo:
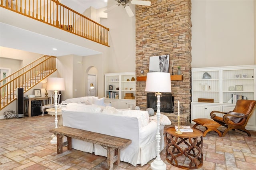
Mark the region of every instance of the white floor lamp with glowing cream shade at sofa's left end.
MULTIPOLYGON (((59 77, 49 77, 47 79, 47 87, 46 90, 53 90, 54 91, 54 108, 55 108, 55 128, 58 128, 58 90, 63 91, 65 90, 65 83, 63 78, 59 77)), ((51 144, 57 143, 57 138, 54 135, 52 140, 50 141, 51 144)))

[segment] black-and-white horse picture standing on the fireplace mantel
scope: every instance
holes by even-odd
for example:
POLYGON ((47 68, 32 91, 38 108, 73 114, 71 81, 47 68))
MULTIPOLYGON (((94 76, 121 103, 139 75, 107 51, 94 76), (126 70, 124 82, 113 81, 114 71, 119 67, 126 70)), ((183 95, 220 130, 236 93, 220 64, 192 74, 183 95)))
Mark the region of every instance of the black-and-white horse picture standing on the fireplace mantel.
POLYGON ((169 55, 157 55, 149 58, 149 72, 169 73, 169 55))

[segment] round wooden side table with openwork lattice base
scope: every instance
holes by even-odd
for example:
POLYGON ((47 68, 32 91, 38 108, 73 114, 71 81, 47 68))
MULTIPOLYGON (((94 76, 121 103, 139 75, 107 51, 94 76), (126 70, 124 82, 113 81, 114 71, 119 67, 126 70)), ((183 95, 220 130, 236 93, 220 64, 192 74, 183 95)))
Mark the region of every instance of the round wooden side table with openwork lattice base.
POLYGON ((182 134, 175 132, 174 127, 166 128, 166 161, 178 168, 200 168, 203 165, 203 133, 197 129, 182 134), (185 160, 189 161, 188 166, 183 166, 185 160))

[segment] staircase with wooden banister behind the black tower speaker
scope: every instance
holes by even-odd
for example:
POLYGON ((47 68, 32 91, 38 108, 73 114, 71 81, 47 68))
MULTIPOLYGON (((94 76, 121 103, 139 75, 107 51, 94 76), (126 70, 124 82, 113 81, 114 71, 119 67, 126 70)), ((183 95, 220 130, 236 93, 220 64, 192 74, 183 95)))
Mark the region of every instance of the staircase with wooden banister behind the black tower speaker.
POLYGON ((0 110, 16 100, 17 88, 25 93, 56 70, 56 57, 44 55, 0 80, 0 110))

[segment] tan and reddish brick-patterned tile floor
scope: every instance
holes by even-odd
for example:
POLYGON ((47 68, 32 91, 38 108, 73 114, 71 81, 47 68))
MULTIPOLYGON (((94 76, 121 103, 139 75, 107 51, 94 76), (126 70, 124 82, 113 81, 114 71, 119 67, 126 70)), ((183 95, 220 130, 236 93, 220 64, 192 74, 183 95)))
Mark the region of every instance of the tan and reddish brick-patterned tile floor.
MULTIPOLYGON (((50 115, 0 120, 0 170, 105 170, 106 157, 67 150, 56 153, 56 144, 50 144, 50 128, 54 128, 50 115)), ((172 126, 172 125, 170 125, 172 126)), ((170 127, 166 126, 166 127, 170 127)), ((203 127, 201 127, 202 129, 203 127)), ((256 131, 252 136, 238 130, 230 130, 224 137, 209 132, 203 138, 204 170, 256 170, 256 131)), ((180 169, 161 158, 167 170, 180 169)), ((132 166, 121 162, 115 170, 151 170, 150 162, 144 166, 132 166)), ((184 160, 184 164, 187 164, 184 160)))

